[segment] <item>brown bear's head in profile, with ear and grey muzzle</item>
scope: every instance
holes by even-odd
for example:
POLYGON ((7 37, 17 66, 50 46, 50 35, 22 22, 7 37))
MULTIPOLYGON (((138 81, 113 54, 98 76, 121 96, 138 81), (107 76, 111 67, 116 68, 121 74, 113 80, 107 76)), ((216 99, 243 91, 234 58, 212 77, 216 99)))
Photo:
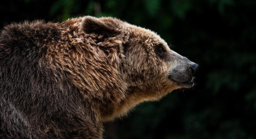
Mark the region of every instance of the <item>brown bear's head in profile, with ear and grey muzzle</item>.
POLYGON ((126 98, 113 106, 112 116, 103 119, 122 115, 140 102, 158 100, 174 89, 194 85, 198 64, 171 50, 153 31, 115 18, 91 16, 82 19, 80 30, 101 36, 98 46, 111 47, 104 55, 126 83, 126 98))

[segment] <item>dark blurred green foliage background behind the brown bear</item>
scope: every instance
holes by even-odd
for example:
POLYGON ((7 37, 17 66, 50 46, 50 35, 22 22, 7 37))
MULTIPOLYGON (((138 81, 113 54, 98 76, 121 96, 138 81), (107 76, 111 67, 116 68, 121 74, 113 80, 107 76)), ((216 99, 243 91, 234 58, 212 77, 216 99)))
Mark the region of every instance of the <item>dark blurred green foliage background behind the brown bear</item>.
POLYGON ((1 29, 24 20, 112 16, 157 32, 200 65, 197 85, 105 124, 106 139, 256 138, 256 1, 1 1, 1 29))

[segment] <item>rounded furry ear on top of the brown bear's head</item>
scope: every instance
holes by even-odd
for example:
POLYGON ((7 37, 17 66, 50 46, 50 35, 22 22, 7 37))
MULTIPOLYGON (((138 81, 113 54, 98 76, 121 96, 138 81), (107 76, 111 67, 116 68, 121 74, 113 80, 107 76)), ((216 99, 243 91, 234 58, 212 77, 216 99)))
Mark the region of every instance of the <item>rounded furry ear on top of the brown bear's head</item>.
POLYGON ((117 31, 111 26, 110 23, 100 20, 99 18, 92 16, 85 16, 82 19, 81 30, 85 33, 95 34, 113 34, 117 31))

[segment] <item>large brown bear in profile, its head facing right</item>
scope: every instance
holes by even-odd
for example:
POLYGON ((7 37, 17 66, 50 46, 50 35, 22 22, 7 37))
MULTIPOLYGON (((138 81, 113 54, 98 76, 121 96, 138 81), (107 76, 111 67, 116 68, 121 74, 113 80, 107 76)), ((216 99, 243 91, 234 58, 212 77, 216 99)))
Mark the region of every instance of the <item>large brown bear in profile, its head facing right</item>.
POLYGON ((0 138, 102 138, 104 121, 193 86, 197 69, 116 18, 10 24, 0 36, 0 138))

